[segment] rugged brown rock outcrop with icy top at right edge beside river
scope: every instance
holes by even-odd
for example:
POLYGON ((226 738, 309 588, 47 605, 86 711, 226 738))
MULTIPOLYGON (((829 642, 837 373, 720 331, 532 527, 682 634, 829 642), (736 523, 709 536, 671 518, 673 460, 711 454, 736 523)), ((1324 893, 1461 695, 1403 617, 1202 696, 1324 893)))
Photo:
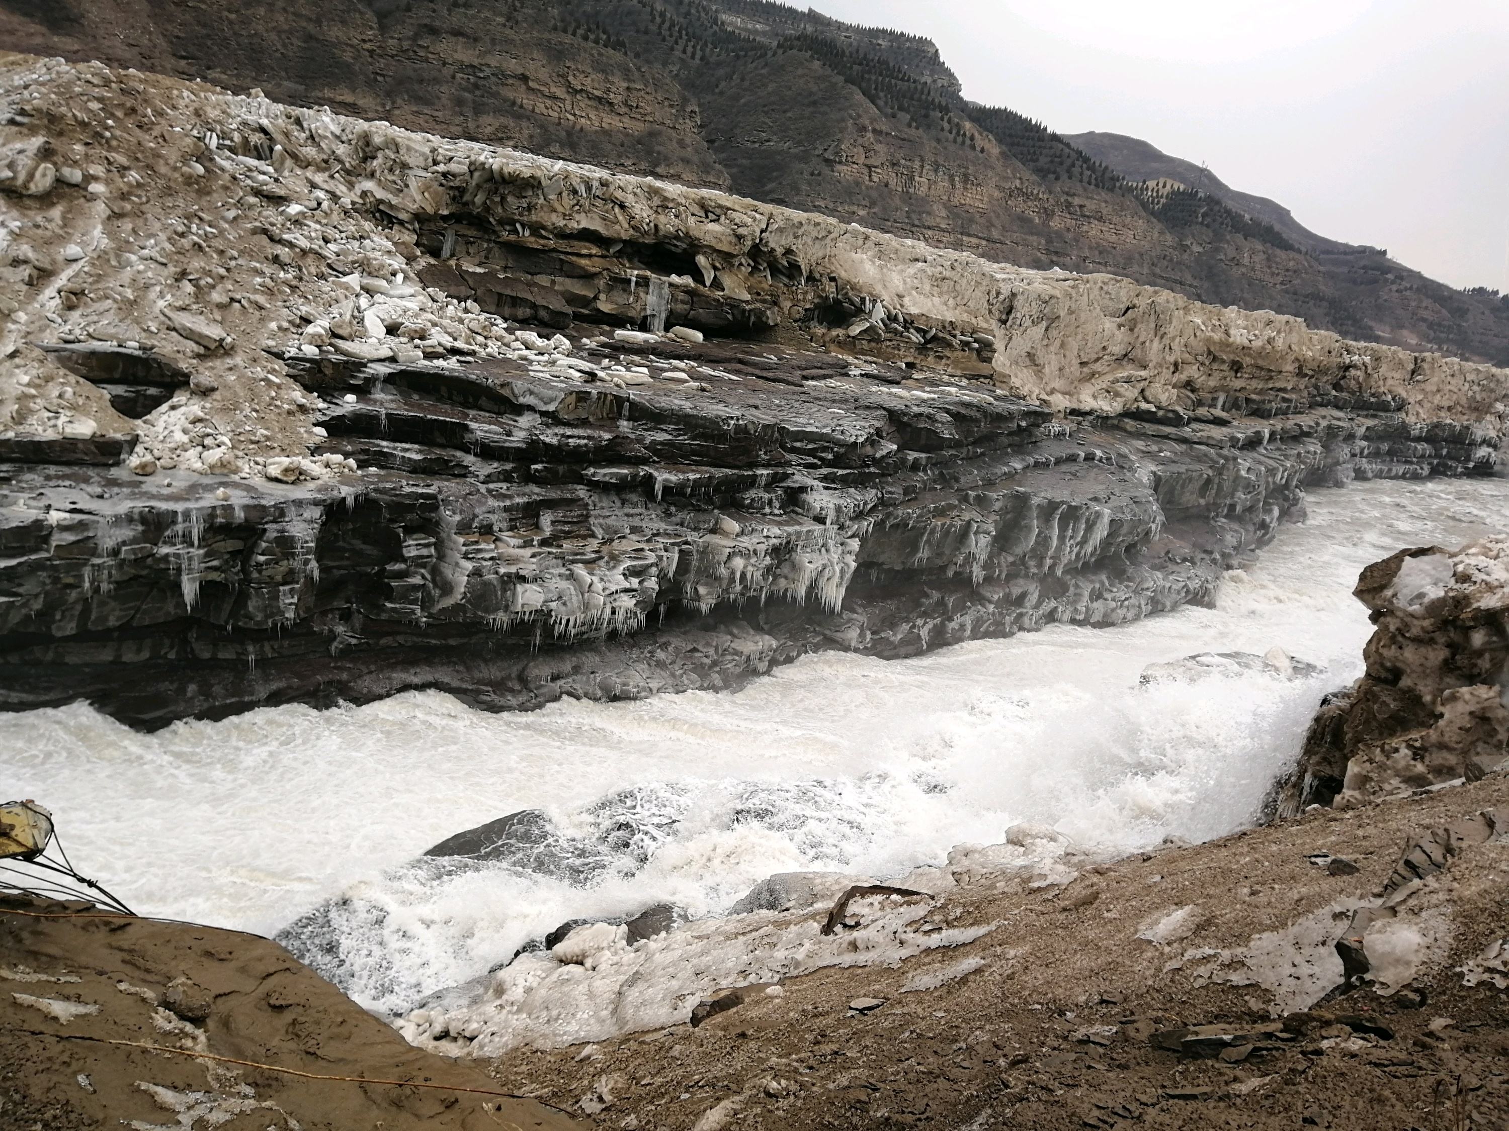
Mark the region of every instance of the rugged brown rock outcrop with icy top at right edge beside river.
POLYGON ((1320 707, 1278 813, 1354 807, 1509 762, 1509 541, 1400 550, 1364 570, 1367 674, 1320 707))

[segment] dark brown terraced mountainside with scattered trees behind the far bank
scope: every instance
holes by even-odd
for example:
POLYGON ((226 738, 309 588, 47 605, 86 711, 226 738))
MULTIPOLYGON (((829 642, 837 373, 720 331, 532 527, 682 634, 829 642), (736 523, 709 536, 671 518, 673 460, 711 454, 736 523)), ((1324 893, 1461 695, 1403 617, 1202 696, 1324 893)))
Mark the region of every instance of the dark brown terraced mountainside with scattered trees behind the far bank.
POLYGON ((1043 125, 966 103, 928 41, 764 0, 3 0, 0 42, 1509 362, 1498 299, 1296 240, 1249 199, 1142 195, 1043 125))

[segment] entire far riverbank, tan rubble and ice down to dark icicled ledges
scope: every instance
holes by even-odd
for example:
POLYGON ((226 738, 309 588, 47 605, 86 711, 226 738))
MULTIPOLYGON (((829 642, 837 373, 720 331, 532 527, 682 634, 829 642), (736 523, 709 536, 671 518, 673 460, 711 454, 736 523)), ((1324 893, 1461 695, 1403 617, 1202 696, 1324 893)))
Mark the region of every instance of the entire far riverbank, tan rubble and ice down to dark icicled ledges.
POLYGON ((1209 600, 1506 374, 6 56, 0 703, 729 688, 1209 600), (522 329, 531 326, 534 329, 522 329))

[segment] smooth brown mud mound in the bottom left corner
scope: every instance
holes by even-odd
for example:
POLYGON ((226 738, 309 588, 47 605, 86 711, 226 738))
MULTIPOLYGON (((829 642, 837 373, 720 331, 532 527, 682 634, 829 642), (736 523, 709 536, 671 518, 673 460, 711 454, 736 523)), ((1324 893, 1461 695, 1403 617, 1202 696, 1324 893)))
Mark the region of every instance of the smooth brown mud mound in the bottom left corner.
POLYGON ((0 902, 5 1131, 576 1126, 527 1099, 308 1080, 109 1044, 207 1053, 314 1075, 507 1090, 480 1066, 406 1045, 275 942, 210 927, 74 917, 83 909, 0 902))

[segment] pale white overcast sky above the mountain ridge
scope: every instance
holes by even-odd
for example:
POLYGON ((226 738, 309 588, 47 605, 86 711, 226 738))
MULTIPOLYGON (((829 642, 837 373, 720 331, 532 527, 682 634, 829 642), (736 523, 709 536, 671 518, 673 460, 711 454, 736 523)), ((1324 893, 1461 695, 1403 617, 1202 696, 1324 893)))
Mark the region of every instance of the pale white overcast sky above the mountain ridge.
POLYGON ((1141 137, 1509 293, 1509 0, 807 2, 931 38, 966 98, 1141 137))

